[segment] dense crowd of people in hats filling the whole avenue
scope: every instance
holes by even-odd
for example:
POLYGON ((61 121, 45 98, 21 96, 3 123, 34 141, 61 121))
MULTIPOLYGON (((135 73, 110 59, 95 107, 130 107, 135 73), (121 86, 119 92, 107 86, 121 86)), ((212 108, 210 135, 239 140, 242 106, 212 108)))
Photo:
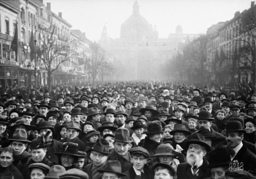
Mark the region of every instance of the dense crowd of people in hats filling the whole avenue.
POLYGON ((250 89, 119 82, 0 101, 0 179, 256 178, 250 89))

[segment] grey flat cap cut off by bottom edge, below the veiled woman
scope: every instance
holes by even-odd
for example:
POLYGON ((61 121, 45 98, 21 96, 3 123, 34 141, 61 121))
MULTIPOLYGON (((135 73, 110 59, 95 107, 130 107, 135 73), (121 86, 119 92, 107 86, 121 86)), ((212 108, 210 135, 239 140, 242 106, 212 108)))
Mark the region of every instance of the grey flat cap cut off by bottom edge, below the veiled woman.
POLYGON ((88 179, 89 176, 83 170, 72 168, 59 176, 59 179, 88 179))

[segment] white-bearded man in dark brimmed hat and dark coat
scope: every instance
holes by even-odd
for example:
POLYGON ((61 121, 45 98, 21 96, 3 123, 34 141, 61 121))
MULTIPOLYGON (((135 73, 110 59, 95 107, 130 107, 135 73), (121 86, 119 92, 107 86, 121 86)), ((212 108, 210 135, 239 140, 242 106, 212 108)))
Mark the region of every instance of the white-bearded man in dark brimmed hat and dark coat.
POLYGON ((177 167, 177 179, 204 179, 211 176, 208 163, 203 158, 211 150, 205 137, 198 133, 188 136, 184 142, 187 149, 187 162, 181 163, 177 167))

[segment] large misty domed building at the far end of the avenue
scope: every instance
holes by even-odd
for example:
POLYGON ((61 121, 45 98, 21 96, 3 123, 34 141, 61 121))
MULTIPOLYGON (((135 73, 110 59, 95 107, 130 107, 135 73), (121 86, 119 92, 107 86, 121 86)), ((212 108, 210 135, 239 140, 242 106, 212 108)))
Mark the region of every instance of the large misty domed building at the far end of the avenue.
POLYGON ((104 26, 98 43, 114 59, 116 79, 112 80, 170 79, 161 68, 178 52, 184 39, 197 36, 199 35, 183 34, 179 25, 176 33, 169 34, 168 38, 158 38, 157 27, 154 26, 153 29, 140 14, 135 0, 132 15, 121 25, 120 38, 108 37, 104 26))

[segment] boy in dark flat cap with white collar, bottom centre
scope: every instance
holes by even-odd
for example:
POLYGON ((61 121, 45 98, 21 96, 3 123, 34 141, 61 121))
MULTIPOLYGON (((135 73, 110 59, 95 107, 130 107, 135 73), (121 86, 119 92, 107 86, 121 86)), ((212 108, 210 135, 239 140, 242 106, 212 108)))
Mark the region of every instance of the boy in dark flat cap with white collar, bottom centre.
POLYGON ((129 150, 133 166, 125 171, 126 179, 153 179, 151 169, 146 165, 149 158, 148 150, 143 147, 135 147, 129 150))

